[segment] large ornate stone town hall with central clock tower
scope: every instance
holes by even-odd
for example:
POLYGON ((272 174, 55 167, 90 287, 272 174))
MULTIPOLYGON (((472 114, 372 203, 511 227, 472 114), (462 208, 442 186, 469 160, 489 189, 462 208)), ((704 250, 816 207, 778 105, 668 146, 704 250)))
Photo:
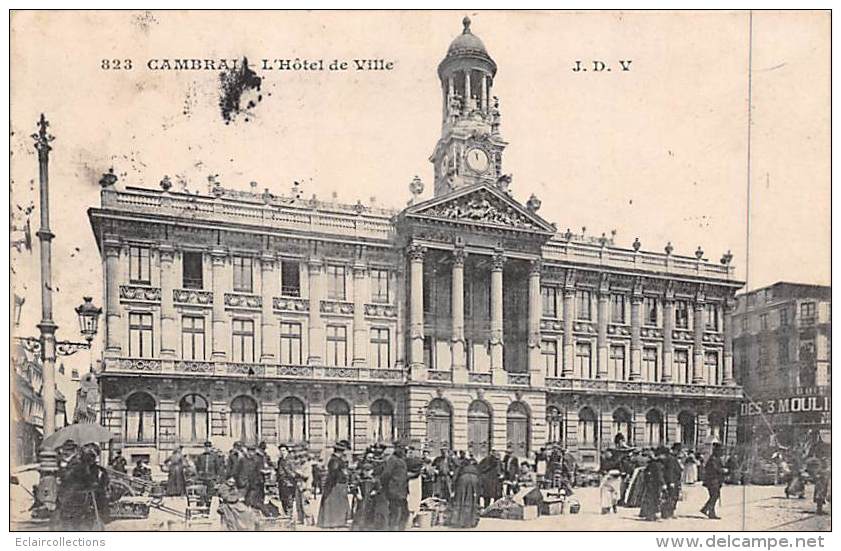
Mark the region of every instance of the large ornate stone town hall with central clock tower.
POLYGON ((103 179, 101 418, 129 458, 398 437, 477 456, 558 441, 593 465, 617 432, 735 442, 730 255, 559 233, 516 201, 495 74, 465 20, 438 67, 434 196, 399 212, 103 179))

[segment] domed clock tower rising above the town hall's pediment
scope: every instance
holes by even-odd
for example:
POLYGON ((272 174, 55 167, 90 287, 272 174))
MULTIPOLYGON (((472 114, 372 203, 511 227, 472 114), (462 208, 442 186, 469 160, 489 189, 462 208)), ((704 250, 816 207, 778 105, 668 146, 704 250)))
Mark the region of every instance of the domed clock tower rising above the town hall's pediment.
POLYGON ((485 182, 503 189, 502 151, 507 145, 499 135, 499 101, 491 92, 496 63, 485 45, 464 30, 447 49, 438 65, 443 97, 441 138, 430 157, 435 167, 435 196, 485 182))

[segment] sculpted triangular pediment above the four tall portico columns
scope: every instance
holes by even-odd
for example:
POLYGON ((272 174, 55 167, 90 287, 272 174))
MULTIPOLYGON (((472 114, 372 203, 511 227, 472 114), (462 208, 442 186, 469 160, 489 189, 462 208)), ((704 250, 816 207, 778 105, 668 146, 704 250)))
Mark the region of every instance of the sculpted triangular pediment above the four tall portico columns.
POLYGON ((481 183, 434 197, 403 211, 407 218, 554 234, 555 228, 494 185, 481 183))

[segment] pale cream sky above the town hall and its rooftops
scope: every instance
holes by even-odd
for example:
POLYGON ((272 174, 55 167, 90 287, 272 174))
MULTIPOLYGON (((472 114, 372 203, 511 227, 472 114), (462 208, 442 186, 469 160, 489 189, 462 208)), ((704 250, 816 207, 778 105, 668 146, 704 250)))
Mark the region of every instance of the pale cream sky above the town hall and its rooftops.
MULTIPOLYGON (((38 227, 41 112, 50 157, 55 319, 102 305, 86 211, 109 167, 118 186, 164 175, 205 192, 303 192, 400 208, 414 175, 432 193, 440 136, 436 68, 464 15, 498 65, 503 171, 564 231, 679 254, 732 251, 751 289, 830 282, 829 15, 757 12, 17 12, 11 27, 13 222, 38 227), (752 47, 751 47, 752 44, 752 47), (751 51, 752 50, 752 51, 751 51), (751 55, 749 55, 749 52, 751 55), (150 59, 384 59, 389 71, 263 71, 262 100, 225 124, 218 71, 150 70, 150 59), (103 69, 103 59, 132 68, 103 69), (574 72, 575 62, 611 72, 574 72), (631 60, 621 71, 619 60, 631 60), (749 78, 749 65, 752 68, 749 78), (747 252, 748 90, 750 263, 747 252)), ((158 65, 161 64, 157 61, 158 65)), ((113 67, 113 63, 109 63, 113 67)), ((250 96, 253 97, 253 96, 250 96)), ((14 235, 13 235, 14 237, 14 235)), ((13 252, 37 334, 38 248, 13 252), (35 282, 35 283, 33 283, 35 282)))

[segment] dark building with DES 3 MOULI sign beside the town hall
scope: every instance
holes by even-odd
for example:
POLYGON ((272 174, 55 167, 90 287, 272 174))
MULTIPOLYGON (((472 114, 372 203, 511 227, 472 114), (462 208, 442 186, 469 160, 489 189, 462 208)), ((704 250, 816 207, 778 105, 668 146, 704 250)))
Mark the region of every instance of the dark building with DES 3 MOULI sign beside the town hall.
POLYGON ((733 357, 744 387, 742 442, 790 446, 814 431, 829 441, 832 289, 779 282, 739 295, 733 357))

